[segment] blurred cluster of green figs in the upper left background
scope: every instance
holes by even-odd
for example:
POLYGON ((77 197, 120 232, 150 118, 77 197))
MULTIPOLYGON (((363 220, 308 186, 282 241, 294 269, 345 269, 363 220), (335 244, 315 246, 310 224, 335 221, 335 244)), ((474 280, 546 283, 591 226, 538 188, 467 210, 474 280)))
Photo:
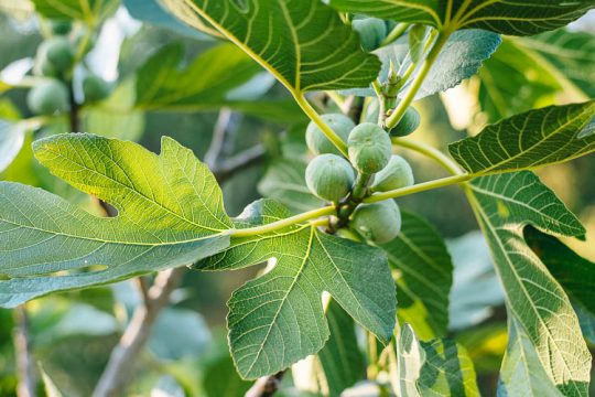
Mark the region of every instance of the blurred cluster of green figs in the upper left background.
MULTIPOLYGON (((72 105, 72 77, 77 55, 84 55, 93 47, 93 37, 83 31, 74 31, 69 22, 52 22, 51 36, 37 47, 33 74, 40 77, 28 94, 28 105, 37 115, 67 112, 72 105), (80 54, 77 54, 80 52, 80 54)), ((110 85, 101 77, 86 72, 82 81, 85 103, 105 99, 110 85)))

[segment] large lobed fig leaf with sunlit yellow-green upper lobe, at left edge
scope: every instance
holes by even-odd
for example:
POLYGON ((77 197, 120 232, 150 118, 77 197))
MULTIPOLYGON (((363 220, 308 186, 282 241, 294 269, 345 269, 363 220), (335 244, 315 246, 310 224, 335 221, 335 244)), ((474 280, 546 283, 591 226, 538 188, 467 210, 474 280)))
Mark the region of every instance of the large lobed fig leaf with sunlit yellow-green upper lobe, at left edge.
POLYGON ((192 264, 229 245, 219 186, 191 150, 90 135, 36 141, 51 172, 118 210, 99 218, 45 191, 0 183, 0 305, 192 264))

